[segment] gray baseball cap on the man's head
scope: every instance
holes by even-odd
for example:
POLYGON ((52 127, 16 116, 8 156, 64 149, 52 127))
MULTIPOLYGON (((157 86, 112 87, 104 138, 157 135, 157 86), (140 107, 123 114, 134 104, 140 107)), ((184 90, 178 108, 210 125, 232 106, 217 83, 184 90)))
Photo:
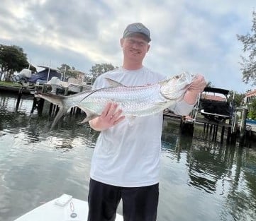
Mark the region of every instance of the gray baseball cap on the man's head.
POLYGON ((150 30, 148 30, 148 28, 146 28, 142 23, 132 23, 128 25, 123 32, 123 37, 128 37, 135 33, 143 34, 148 42, 151 41, 150 30))

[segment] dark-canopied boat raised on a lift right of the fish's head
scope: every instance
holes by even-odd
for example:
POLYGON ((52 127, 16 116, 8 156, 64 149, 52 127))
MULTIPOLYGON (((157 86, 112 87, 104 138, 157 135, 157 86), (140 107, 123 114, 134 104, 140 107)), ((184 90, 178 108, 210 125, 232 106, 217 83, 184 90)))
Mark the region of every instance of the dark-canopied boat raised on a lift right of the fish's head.
POLYGON ((229 90, 204 88, 199 100, 200 114, 209 121, 223 122, 233 117, 232 104, 228 102, 229 90))

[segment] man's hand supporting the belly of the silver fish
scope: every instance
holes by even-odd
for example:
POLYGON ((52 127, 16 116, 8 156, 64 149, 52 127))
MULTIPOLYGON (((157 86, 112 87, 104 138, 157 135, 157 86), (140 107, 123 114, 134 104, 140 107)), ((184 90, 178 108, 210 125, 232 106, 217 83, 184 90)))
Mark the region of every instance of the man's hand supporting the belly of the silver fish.
POLYGON ((101 116, 92 119, 89 124, 95 131, 104 131, 125 118, 121 116, 122 112, 121 109, 118 109, 118 104, 109 102, 106 104, 101 116))

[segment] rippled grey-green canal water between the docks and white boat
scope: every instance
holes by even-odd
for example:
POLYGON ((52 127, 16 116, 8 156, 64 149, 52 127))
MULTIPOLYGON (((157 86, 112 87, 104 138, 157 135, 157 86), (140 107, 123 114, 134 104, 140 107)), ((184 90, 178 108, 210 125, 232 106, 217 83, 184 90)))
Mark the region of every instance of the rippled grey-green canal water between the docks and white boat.
MULTIPOLYGON (((0 94, 0 220, 11 221, 62 193, 87 200, 91 155, 99 133, 67 115, 50 132, 32 100, 0 94)), ((159 221, 256 220, 256 146, 212 142, 196 127, 181 136, 164 121, 159 221)), ((118 208, 121 213, 121 206, 118 208)), ((46 221, 46 220, 45 220, 46 221)))

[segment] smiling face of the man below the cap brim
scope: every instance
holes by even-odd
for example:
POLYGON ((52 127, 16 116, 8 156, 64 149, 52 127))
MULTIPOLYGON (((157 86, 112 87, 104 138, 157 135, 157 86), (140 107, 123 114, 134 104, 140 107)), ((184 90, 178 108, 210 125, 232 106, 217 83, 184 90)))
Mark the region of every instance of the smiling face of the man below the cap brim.
POLYGON ((150 49, 150 44, 148 44, 143 35, 134 34, 129 37, 122 38, 121 47, 123 47, 124 59, 142 62, 145 54, 150 49))

